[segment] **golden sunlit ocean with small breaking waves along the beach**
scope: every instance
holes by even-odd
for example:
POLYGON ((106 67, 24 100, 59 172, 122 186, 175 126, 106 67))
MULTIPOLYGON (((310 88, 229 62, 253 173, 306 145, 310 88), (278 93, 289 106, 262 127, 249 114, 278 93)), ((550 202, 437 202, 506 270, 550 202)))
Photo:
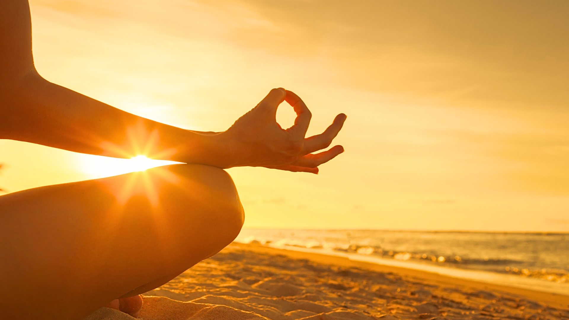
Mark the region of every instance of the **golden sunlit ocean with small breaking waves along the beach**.
POLYGON ((242 229, 236 241, 569 296, 569 233, 242 229))

